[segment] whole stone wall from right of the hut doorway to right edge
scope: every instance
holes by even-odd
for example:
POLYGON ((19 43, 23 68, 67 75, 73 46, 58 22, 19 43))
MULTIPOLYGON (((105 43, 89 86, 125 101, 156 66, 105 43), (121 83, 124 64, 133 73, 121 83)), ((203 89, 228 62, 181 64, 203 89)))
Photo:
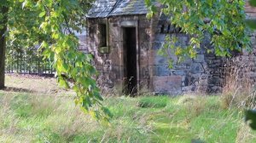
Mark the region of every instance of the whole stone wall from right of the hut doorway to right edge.
MULTIPOLYGON (((248 18, 256 18, 256 9, 246 6, 248 18)), ((154 60, 150 61, 149 66, 153 69, 153 91, 155 93, 181 94, 181 93, 218 93, 221 92, 227 83, 228 69, 236 69, 239 71, 240 77, 247 77, 253 85, 256 81, 256 40, 255 32, 252 33, 253 53, 248 54, 243 51, 234 55, 232 58, 218 57, 214 54, 207 54, 205 48, 211 49, 210 36, 205 37, 201 43, 201 50, 195 60, 186 60, 183 63, 174 64, 172 69, 168 68, 165 58, 156 54, 161 45, 165 41, 166 35, 175 35, 181 39, 180 43, 187 44, 189 37, 182 33, 173 33, 170 31, 170 23, 166 20, 159 20, 158 25, 154 26, 155 36, 153 39, 153 47, 150 51, 154 60), (169 31, 168 31, 169 29, 169 31), (232 64, 231 64, 232 63, 232 64), (227 67, 230 64, 230 67, 227 67)), ((171 28, 172 29, 172 28, 171 28)), ((175 55, 171 55, 176 60, 175 55)), ((234 75, 233 75, 234 76, 234 75)), ((241 83, 239 81, 234 81, 241 83)))

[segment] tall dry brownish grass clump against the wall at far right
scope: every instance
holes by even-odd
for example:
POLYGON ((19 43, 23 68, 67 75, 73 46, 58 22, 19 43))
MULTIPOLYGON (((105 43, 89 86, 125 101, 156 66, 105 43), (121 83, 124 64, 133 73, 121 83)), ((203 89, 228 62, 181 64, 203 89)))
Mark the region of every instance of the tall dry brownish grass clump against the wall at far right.
POLYGON ((224 108, 255 108, 256 90, 247 63, 228 60, 225 70, 225 86, 222 94, 224 108))

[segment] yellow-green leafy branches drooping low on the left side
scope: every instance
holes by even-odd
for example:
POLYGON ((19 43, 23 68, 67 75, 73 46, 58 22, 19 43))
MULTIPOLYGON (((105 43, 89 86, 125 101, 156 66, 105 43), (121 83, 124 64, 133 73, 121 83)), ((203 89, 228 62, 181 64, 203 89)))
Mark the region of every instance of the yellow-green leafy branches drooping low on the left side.
POLYGON ((44 57, 54 61, 58 82, 72 88, 74 101, 92 117, 108 121, 111 114, 102 106, 102 96, 91 65, 92 55, 78 50, 73 31, 83 27, 84 15, 92 0, 2 0, 0 3, 0 88, 4 86, 6 40, 40 45, 44 57), (8 31, 7 31, 8 29, 8 31), (73 85, 70 86, 69 82, 73 85))

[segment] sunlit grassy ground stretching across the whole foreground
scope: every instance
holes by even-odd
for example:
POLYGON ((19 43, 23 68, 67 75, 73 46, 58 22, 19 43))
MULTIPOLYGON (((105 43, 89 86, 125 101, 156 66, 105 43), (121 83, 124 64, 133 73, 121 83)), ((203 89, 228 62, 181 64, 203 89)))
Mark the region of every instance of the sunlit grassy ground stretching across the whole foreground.
POLYGON ((109 97, 104 104, 113 119, 103 126, 74 106, 74 94, 57 88, 54 79, 6 81, 0 142, 256 142, 243 111, 224 108, 219 96, 109 97))

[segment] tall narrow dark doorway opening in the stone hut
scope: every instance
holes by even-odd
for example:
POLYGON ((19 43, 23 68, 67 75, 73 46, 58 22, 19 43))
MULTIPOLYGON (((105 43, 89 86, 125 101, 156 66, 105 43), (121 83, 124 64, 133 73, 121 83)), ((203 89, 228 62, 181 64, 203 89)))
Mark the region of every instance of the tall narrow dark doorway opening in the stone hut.
POLYGON ((125 94, 137 94, 137 44, 136 28, 124 28, 125 94))

